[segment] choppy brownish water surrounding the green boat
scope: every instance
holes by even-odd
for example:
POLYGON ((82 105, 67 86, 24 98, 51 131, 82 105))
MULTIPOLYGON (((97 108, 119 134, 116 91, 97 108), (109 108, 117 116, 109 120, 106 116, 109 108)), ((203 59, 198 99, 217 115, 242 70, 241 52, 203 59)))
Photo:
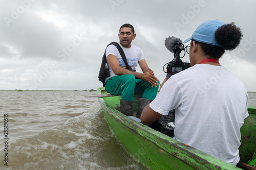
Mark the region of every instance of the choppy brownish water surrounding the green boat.
POLYGON ((114 137, 98 99, 84 98, 95 93, 0 91, 0 169, 146 169, 114 137))

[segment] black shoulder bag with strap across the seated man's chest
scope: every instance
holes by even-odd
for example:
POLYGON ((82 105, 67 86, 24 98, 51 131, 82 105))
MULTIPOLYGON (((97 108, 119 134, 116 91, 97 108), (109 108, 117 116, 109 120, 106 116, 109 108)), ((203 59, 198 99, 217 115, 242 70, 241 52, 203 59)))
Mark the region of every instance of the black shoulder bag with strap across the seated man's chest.
MULTIPOLYGON (((125 68, 128 70, 131 70, 131 71, 136 71, 136 70, 133 70, 132 67, 129 66, 122 47, 117 42, 111 42, 109 45, 111 45, 111 44, 115 45, 117 50, 119 51, 119 53, 123 59, 123 62, 126 65, 125 68)), ((106 46, 106 47, 108 47, 108 46, 106 46)), ((99 70, 99 77, 98 77, 99 81, 101 81, 103 83, 103 87, 105 87, 105 78, 110 76, 110 70, 109 70, 108 64, 106 63, 106 54, 105 53, 106 53, 106 50, 102 57, 102 62, 101 62, 101 66, 100 66, 100 70, 99 70)))

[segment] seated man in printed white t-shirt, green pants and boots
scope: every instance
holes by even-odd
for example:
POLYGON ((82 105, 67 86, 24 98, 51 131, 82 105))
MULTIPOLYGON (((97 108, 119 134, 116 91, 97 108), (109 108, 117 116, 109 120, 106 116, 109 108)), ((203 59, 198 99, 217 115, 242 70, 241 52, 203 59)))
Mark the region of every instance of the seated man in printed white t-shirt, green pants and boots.
MULTIPOLYGON (((143 94, 143 100, 149 103, 157 95, 159 80, 155 77, 154 71, 147 66, 141 49, 131 44, 136 37, 134 27, 128 23, 124 24, 120 27, 118 37, 119 45, 129 66, 135 69, 139 64, 143 73, 125 69, 126 65, 117 47, 109 45, 106 48, 105 56, 110 70, 110 77, 105 79, 105 88, 111 94, 122 95, 120 111, 125 115, 131 116, 133 115, 134 94, 143 94)), ((141 104, 145 103, 143 100, 140 102, 141 104)))

